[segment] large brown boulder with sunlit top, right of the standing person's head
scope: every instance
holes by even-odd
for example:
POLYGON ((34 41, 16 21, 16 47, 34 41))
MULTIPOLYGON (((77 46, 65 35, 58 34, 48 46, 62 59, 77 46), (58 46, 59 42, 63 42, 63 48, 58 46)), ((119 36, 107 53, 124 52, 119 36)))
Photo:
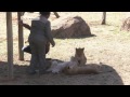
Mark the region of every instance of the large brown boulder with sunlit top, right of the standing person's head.
POLYGON ((80 16, 64 16, 52 22, 54 38, 79 38, 91 36, 88 24, 80 16))

